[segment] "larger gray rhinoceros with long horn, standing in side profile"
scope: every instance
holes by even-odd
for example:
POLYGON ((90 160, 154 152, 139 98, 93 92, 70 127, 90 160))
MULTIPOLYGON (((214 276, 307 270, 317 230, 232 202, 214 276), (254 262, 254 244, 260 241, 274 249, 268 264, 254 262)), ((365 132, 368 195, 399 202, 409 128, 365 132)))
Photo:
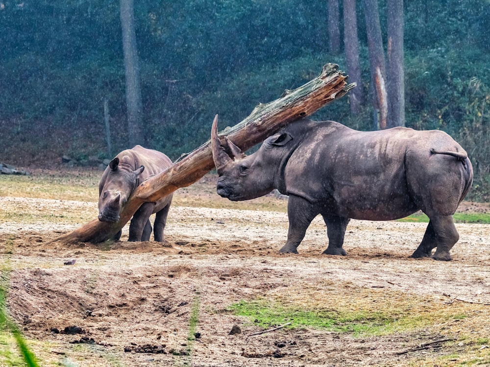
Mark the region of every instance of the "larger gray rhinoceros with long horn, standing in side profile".
POLYGON ((345 255, 350 218, 392 220, 422 210, 430 221, 412 257, 451 260, 449 250, 459 239, 452 215, 471 187, 473 168, 466 151, 446 133, 403 127, 362 132, 304 119, 245 156, 227 138, 221 142, 217 121, 211 142, 218 194, 248 200, 276 188, 289 195, 288 239, 280 252, 297 253, 318 214, 327 226, 323 253, 345 255))

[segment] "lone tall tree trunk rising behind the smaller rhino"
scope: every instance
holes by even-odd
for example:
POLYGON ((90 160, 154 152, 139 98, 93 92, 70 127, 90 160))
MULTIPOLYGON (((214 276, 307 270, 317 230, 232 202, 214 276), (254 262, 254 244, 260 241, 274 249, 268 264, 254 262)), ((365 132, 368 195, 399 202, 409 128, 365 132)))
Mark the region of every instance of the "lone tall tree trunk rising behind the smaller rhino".
POLYGON ((126 110, 129 145, 143 144, 140 65, 136 48, 133 0, 121 0, 124 69, 126 74, 126 110))

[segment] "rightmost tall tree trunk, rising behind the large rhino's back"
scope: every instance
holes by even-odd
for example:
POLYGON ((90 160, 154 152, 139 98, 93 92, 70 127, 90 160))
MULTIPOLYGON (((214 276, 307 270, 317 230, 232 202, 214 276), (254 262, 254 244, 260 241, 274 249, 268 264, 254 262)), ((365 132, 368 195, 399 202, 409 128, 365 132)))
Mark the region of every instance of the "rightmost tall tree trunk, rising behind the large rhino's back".
POLYGON ((388 0, 388 125, 405 126, 403 0, 388 0))

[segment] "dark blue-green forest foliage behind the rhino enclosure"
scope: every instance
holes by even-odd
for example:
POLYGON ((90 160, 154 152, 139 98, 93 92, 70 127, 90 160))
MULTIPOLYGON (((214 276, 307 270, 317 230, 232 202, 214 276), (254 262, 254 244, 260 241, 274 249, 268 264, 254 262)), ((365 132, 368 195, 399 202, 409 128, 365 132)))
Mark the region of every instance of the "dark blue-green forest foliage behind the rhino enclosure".
MULTIPOLYGON (((84 162, 132 146, 124 2, 0 0, 0 161, 49 165, 69 155, 84 162)), ((373 0, 130 2, 142 145, 176 159, 209 138, 215 114, 221 127, 235 125, 258 103, 313 79, 326 63, 350 74, 347 3, 355 4, 360 67, 360 80, 349 82, 357 82, 363 98, 354 100, 351 91, 313 118, 360 130, 379 127, 367 32, 372 15, 365 12, 373 0), (335 30, 338 46, 332 44, 335 30)), ((440 129, 459 141, 475 169, 467 198, 488 201, 490 0, 379 0, 384 53, 391 46, 387 9, 395 2, 403 4, 404 118, 397 124, 440 129)), ((390 68, 386 73, 389 80, 390 68)))

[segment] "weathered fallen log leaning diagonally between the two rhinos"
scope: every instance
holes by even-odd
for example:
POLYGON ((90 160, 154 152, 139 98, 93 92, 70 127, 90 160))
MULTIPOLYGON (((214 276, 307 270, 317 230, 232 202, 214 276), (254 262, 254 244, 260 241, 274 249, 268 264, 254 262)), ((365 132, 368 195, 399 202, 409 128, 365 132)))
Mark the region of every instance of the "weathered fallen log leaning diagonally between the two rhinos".
MULTIPOLYGON (((337 65, 327 64, 315 79, 293 91, 286 90, 275 101, 259 104, 242 122, 226 128, 220 135, 227 136, 245 151, 289 123, 311 115, 325 104, 342 97, 355 87, 355 83, 347 85, 346 79, 347 76, 338 70, 337 65)), ((209 130, 211 132, 211 127, 209 130)), ((213 168, 211 143, 207 141, 167 170, 140 184, 123 207, 118 222, 107 223, 96 219, 51 242, 106 241, 124 227, 143 203, 156 201, 180 187, 189 186, 213 168)))

